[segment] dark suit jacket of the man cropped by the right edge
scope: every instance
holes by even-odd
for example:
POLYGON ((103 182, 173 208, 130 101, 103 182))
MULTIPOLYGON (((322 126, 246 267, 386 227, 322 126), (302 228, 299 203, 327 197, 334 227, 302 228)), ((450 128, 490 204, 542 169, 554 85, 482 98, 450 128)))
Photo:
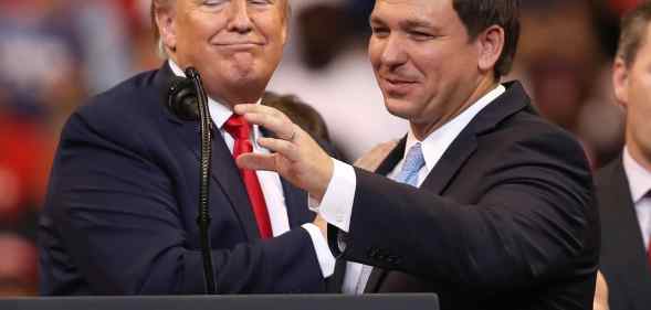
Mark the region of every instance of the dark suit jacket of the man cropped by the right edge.
POLYGON ((648 304, 640 304, 640 297, 636 295, 640 288, 651 287, 651 268, 621 157, 606 169, 601 178, 605 184, 599 190, 603 231, 610 232, 603 238, 605 253, 609 255, 603 259, 608 259, 610 266, 628 266, 618 268, 621 272, 616 277, 623 286, 618 290, 630 295, 629 300, 636 303, 634 309, 647 309, 648 304))

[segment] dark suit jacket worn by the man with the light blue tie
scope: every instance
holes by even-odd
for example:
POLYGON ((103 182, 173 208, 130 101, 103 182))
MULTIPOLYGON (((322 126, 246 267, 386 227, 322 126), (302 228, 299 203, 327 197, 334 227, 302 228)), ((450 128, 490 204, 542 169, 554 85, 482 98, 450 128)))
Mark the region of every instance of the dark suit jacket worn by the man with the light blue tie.
MULTIPOLYGON (((405 139, 377 172, 403 152, 405 139)), ((337 253, 334 237, 330 247, 391 270, 376 269, 367 291, 433 291, 454 310, 591 309, 599 221, 588 162, 535 115, 518 83, 469 124, 420 189, 356 175, 346 248, 337 253)))

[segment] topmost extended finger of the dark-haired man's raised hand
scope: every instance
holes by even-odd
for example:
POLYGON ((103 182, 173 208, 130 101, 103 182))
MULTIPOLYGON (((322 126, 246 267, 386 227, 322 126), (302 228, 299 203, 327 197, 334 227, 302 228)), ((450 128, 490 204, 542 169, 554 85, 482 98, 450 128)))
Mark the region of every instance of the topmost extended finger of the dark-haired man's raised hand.
POLYGON ((263 105, 237 105, 235 113, 243 115, 246 121, 260 125, 273 131, 279 138, 292 140, 294 138, 294 124, 283 113, 263 105))

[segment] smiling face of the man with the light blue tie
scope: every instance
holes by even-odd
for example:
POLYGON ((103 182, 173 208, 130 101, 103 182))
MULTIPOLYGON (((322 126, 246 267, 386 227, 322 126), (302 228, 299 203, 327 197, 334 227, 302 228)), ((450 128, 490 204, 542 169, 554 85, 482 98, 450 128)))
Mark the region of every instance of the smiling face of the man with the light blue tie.
POLYGON ((452 0, 377 0, 370 24, 369 56, 387 109, 430 129, 455 116, 480 77, 479 51, 452 0))

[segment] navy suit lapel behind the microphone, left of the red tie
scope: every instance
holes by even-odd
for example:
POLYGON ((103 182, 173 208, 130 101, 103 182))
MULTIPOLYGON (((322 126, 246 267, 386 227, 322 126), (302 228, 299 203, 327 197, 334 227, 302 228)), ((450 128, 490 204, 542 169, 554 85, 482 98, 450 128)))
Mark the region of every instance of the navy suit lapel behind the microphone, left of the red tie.
MULTIPOLYGON (((169 65, 165 63, 155 77, 155 84, 160 89, 162 96, 161 101, 165 104, 168 99, 169 81, 174 73, 169 65)), ((197 169, 199 169, 200 151, 199 151, 199 122, 183 121, 177 116, 172 115, 167 108, 165 114, 167 120, 174 124, 175 133, 179 141, 190 149, 197 159, 197 169)), ((218 188, 223 195, 230 201, 231 207, 238 215, 241 226, 248 239, 259 239, 260 232, 255 222, 255 215, 249 201, 249 194, 244 188, 244 182, 240 175, 240 171, 235 165, 230 150, 228 149, 223 137, 219 133, 212 135, 212 164, 211 177, 217 181, 218 188)), ((199 180, 197 180, 199 181, 199 180)))

